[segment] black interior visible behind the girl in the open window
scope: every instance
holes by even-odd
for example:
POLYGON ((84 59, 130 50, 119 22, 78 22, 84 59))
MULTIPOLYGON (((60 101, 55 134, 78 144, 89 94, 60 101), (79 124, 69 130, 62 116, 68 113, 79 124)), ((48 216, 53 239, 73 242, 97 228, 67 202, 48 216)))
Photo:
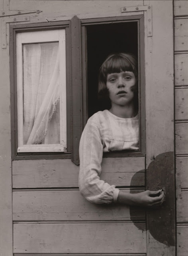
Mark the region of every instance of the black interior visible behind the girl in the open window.
POLYGON ((138 55, 137 22, 118 22, 87 26, 88 117, 99 111, 98 71, 109 54, 127 52, 138 55))

